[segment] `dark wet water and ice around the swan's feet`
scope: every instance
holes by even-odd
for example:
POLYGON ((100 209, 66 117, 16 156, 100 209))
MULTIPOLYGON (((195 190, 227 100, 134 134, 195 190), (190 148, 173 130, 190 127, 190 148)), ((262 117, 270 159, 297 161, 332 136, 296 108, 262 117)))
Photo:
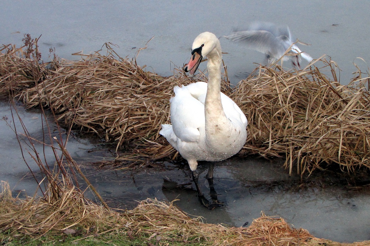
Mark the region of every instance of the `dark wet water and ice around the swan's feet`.
MULTIPOLYGON (((94 186, 112 207, 132 209, 146 198, 175 201, 183 211, 203 216, 204 222, 245 226, 263 211, 281 216, 296 228, 319 238, 341 242, 367 240, 369 236, 370 188, 364 177, 332 171, 314 172, 310 178, 288 175, 283 160, 231 158, 216 163, 214 185, 222 207, 212 211, 198 201, 186 163, 163 162, 155 168, 86 170, 94 186), (92 178, 92 179, 94 179, 92 178)), ((199 184, 209 197, 204 178, 208 163, 199 164, 199 184)))

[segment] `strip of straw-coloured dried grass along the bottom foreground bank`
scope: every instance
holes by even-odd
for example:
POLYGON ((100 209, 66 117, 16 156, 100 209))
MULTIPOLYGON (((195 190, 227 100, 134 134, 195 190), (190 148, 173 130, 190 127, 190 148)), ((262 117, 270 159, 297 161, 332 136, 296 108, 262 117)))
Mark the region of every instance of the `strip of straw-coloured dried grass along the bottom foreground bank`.
MULTIPOLYGON (((161 242, 199 242, 201 245, 370 245, 340 244, 314 238, 305 229, 294 229, 282 218, 261 214, 248 228, 229 228, 191 219, 174 204, 147 199, 135 209, 118 213, 83 198, 75 187, 59 189, 60 199, 12 198, 9 185, 1 182, 0 232, 9 235, 60 234, 67 229, 86 237, 129 235, 161 242)), ((76 234, 77 235, 77 234, 76 234)))

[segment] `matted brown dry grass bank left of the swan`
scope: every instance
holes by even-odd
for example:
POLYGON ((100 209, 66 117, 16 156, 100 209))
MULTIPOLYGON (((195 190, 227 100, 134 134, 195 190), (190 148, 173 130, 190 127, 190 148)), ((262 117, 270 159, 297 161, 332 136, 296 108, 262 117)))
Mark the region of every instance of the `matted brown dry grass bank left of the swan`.
POLYGON ((22 48, 15 52, 11 45, 3 47, 0 95, 12 92, 27 107, 50 107, 58 113, 59 121, 114 141, 117 149, 134 148, 135 154, 151 158, 174 154, 174 149, 159 137, 160 124, 169 122, 169 98, 174 86, 189 84, 193 79, 184 73, 163 77, 146 72, 134 61, 119 57, 110 44, 106 44, 106 55, 80 54, 81 61, 54 59, 49 64, 25 58, 27 49, 22 48), (42 70, 46 76, 28 76, 25 70, 34 74, 42 70))

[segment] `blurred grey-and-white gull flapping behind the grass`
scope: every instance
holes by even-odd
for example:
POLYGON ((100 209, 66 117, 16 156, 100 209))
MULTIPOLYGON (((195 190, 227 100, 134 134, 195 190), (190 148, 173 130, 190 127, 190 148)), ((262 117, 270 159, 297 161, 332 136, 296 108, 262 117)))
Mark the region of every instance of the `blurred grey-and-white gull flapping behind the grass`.
POLYGON ((290 51, 297 55, 284 56, 282 58, 283 61, 290 60, 298 68, 300 68, 300 57, 308 62, 312 61, 312 57, 309 54, 302 52, 296 44, 293 44, 294 41, 292 41, 288 26, 256 22, 250 25, 247 31, 236 30, 224 37, 231 41, 243 42, 248 48, 266 54, 265 65, 281 58, 289 47, 291 47, 290 51))

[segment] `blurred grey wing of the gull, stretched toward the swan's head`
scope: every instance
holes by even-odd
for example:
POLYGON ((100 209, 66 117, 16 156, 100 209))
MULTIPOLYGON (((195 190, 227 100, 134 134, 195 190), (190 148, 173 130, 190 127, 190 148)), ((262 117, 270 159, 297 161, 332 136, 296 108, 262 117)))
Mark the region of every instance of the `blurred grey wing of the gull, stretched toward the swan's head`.
POLYGON ((280 58, 285 52, 282 42, 269 31, 239 31, 225 37, 231 41, 243 42, 250 49, 276 58, 280 58))

